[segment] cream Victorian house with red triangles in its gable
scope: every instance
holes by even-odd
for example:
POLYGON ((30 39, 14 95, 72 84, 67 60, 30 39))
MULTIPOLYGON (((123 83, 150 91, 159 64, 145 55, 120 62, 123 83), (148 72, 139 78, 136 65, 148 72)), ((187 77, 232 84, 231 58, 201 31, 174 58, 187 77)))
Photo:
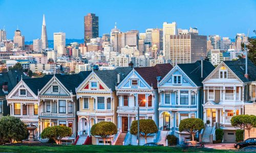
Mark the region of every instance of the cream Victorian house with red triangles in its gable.
MULTIPOLYGON (((103 144, 99 136, 91 136, 91 127, 101 121, 118 124, 118 97, 115 86, 132 70, 131 67, 119 67, 115 70, 92 71, 76 88, 79 100, 77 144, 103 144)), ((118 135, 115 136, 117 138, 118 135)), ((106 144, 115 144, 114 136, 105 140, 106 144)))

